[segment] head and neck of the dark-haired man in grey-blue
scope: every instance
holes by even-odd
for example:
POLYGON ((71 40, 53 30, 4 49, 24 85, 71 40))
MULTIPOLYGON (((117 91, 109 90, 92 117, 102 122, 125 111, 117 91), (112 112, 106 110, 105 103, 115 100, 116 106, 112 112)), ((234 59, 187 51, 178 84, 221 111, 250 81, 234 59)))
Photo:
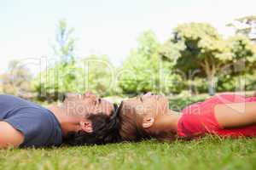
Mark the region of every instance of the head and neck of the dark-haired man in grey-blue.
POLYGON ((61 124, 63 142, 71 145, 106 144, 119 140, 117 106, 95 94, 66 94, 51 107, 61 124))

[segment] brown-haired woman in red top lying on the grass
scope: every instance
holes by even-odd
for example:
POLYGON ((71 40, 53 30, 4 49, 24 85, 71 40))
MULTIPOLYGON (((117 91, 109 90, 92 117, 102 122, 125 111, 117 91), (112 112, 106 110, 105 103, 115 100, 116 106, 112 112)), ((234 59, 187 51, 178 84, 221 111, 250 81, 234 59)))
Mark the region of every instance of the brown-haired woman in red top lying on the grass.
POLYGON ((128 141, 195 139, 207 133, 222 137, 256 136, 256 97, 222 94, 169 110, 164 96, 145 94, 119 106, 119 134, 128 141))

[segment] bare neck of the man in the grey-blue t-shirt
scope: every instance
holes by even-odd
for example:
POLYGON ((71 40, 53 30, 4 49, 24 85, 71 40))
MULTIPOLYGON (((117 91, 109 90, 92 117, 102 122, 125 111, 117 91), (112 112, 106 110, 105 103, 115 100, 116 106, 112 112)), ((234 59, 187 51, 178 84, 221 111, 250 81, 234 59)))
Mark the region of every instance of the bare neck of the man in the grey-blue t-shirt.
POLYGON ((49 111, 51 111, 57 118, 58 122, 60 122, 62 136, 64 138, 67 136, 67 133, 79 131, 80 117, 70 116, 67 114, 65 108, 57 105, 50 106, 49 111))

